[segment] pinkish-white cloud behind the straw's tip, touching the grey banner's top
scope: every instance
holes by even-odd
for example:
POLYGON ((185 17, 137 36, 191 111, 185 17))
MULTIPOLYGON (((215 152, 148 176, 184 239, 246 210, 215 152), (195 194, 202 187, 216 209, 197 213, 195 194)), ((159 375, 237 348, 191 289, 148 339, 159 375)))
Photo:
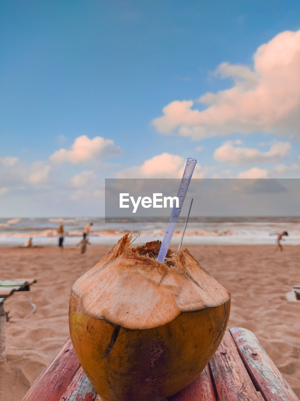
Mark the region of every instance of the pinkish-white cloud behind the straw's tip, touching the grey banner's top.
MULTIPOLYGON (((186 159, 181 156, 162 153, 145 160, 141 166, 125 168, 116 173, 116 178, 181 178, 186 159)), ((196 164, 193 177, 203 178, 210 168, 196 164)))

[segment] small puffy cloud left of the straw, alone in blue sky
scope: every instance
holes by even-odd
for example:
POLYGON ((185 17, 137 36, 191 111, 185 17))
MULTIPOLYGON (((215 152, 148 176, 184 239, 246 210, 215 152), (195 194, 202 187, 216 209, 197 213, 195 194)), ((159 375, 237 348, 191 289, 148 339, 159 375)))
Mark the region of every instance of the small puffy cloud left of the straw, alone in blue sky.
POLYGON ((90 139, 86 135, 82 135, 75 139, 71 150, 61 148, 54 152, 49 159, 54 163, 82 164, 99 157, 118 156, 120 154, 120 147, 115 146, 111 139, 104 139, 101 136, 90 139))

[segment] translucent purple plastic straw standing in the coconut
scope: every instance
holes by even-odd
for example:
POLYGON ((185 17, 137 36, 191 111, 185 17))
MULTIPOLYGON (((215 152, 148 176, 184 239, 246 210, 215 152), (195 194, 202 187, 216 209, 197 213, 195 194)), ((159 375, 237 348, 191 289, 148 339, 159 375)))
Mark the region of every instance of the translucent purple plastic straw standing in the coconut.
POLYGON ((170 242, 176 227, 176 223, 178 221, 178 217, 180 215, 182 205, 184 202, 184 198, 186 197, 186 192, 188 192, 188 186, 190 185, 190 180, 192 178, 194 168, 196 166, 197 160, 188 158, 186 162, 186 167, 183 172, 183 176, 180 182, 180 186, 178 189, 177 197, 179 199, 179 207, 176 207, 176 202, 174 203, 174 207, 172 209, 169 223, 167 225, 167 229, 164 235, 164 239, 162 240, 162 245, 160 247, 159 253, 158 253, 158 261, 160 263, 164 262, 164 259, 166 258, 166 254, 168 252, 170 242))

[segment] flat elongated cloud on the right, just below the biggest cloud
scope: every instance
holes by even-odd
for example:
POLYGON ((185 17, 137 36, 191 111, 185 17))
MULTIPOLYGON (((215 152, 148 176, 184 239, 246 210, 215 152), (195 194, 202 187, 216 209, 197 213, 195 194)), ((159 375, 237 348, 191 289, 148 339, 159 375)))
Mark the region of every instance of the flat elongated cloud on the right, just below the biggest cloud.
POLYGON ((252 163, 280 162, 288 154, 292 146, 288 142, 278 142, 271 146, 267 152, 260 152, 252 148, 236 148, 232 142, 225 142, 214 152, 214 159, 227 163, 230 166, 252 163))

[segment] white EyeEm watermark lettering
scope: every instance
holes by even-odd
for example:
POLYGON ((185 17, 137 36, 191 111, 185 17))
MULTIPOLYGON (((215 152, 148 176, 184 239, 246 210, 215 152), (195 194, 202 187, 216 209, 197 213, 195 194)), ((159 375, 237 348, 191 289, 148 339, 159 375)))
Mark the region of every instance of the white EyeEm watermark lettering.
POLYGON ((150 196, 138 196, 135 200, 134 196, 129 196, 129 193, 120 193, 120 208, 129 208, 130 202, 133 206, 132 213, 136 213, 139 205, 145 209, 148 209, 149 207, 172 208, 175 203, 176 207, 179 207, 178 196, 162 196, 162 193, 154 193, 152 194, 152 198, 150 198, 150 196))

